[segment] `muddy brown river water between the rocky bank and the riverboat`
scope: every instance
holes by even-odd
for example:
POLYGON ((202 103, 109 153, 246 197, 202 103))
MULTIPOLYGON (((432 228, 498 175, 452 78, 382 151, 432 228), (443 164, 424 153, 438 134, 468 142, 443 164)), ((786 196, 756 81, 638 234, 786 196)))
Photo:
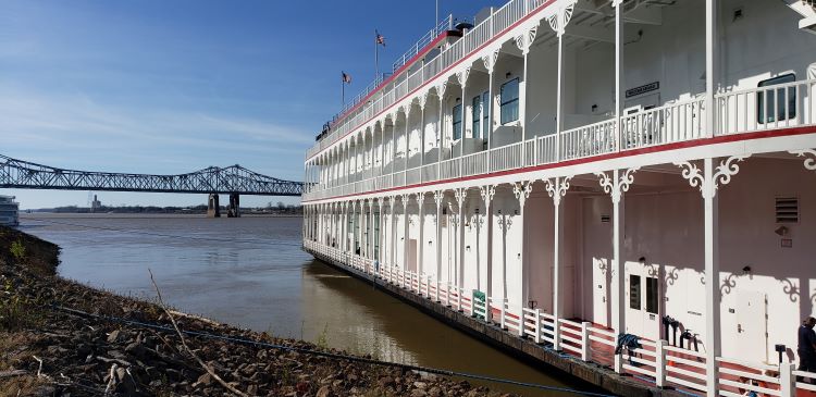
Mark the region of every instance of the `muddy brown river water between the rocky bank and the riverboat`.
POLYGON ((150 269, 169 303, 221 322, 311 342, 324 337, 332 347, 390 361, 586 388, 314 260, 300 250, 299 218, 34 213, 21 223, 62 248, 62 276, 95 287, 152 297, 150 269))

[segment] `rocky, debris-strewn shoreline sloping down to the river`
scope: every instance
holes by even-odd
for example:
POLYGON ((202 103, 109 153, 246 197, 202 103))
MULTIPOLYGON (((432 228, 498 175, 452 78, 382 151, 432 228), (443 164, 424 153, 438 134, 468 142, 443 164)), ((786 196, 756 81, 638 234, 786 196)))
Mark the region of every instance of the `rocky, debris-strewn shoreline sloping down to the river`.
MULTIPOLYGON (((3 396, 498 396, 485 387, 304 351, 274 349, 82 317, 172 326, 156 302, 55 275, 59 247, 0 228, 0 397, 3 396)), ((173 313, 184 331, 347 355, 302 340, 173 313)))

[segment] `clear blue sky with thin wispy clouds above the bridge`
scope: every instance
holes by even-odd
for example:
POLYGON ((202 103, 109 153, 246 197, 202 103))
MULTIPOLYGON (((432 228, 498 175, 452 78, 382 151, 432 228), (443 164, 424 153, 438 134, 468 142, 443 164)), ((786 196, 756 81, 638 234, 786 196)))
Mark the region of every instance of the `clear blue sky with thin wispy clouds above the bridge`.
MULTIPOLYGON (((441 0, 471 18, 502 0, 441 0)), ((0 153, 63 169, 175 174, 242 164, 302 178, 305 150, 341 102, 433 25, 434 1, 3 1, 0 153)), ((23 208, 87 191, 0 189, 23 208)), ((97 193, 107 204, 200 195, 97 193)), ((245 197, 243 204, 297 199, 245 197)))

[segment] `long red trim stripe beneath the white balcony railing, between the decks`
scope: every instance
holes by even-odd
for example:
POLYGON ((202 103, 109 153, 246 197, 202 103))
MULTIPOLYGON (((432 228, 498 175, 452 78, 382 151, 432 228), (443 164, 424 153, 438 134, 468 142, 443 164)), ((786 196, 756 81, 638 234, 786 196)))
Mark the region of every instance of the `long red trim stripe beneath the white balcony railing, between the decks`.
POLYGON ((422 187, 422 186, 433 186, 433 185, 449 184, 449 183, 455 183, 455 182, 483 179, 483 178, 495 177, 495 176, 512 175, 512 174, 521 174, 521 173, 532 172, 532 171, 558 169, 558 168, 564 168, 564 166, 585 164, 585 163, 598 162, 598 161, 610 160, 610 159, 633 157, 638 154, 656 153, 656 152, 677 150, 677 149, 694 148, 694 147, 701 147, 701 146, 707 146, 707 145, 728 144, 728 142, 735 142, 735 141, 743 141, 743 140, 755 140, 755 139, 784 137, 784 136, 793 136, 793 135, 805 135, 805 134, 816 134, 816 126, 804 126, 804 127, 793 127, 793 128, 786 128, 786 129, 763 131, 763 132, 756 132, 756 133, 722 135, 722 136, 716 136, 713 138, 701 138, 701 139, 694 139, 694 140, 687 140, 682 142, 665 144, 665 145, 658 145, 658 146, 651 146, 647 148, 632 149, 632 150, 615 152, 615 153, 598 154, 598 156, 593 156, 593 157, 583 158, 583 159, 561 161, 558 163, 534 165, 534 166, 520 168, 520 169, 515 169, 515 170, 497 171, 497 172, 480 174, 480 175, 460 176, 460 177, 443 179, 443 181, 424 182, 424 183, 413 184, 413 185, 391 187, 387 189, 371 190, 371 191, 367 191, 362 194, 334 196, 334 197, 327 197, 327 198, 322 198, 318 200, 309 200, 309 201, 302 201, 302 202, 308 203, 308 202, 320 201, 320 200, 331 200, 331 199, 339 199, 339 198, 346 198, 346 197, 364 196, 364 195, 370 195, 370 194, 386 193, 386 191, 394 191, 394 190, 405 190, 405 189, 411 189, 411 188, 417 188, 417 187, 422 187))

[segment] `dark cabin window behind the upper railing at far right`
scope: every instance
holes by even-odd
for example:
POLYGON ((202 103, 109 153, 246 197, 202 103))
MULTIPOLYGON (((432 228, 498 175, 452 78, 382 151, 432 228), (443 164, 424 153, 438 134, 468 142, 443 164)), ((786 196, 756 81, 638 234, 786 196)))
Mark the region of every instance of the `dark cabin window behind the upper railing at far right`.
POLYGON ((759 82, 758 87, 768 88, 756 94, 757 122, 775 123, 796 117, 796 87, 772 87, 795 80, 796 75, 789 73, 759 82))

